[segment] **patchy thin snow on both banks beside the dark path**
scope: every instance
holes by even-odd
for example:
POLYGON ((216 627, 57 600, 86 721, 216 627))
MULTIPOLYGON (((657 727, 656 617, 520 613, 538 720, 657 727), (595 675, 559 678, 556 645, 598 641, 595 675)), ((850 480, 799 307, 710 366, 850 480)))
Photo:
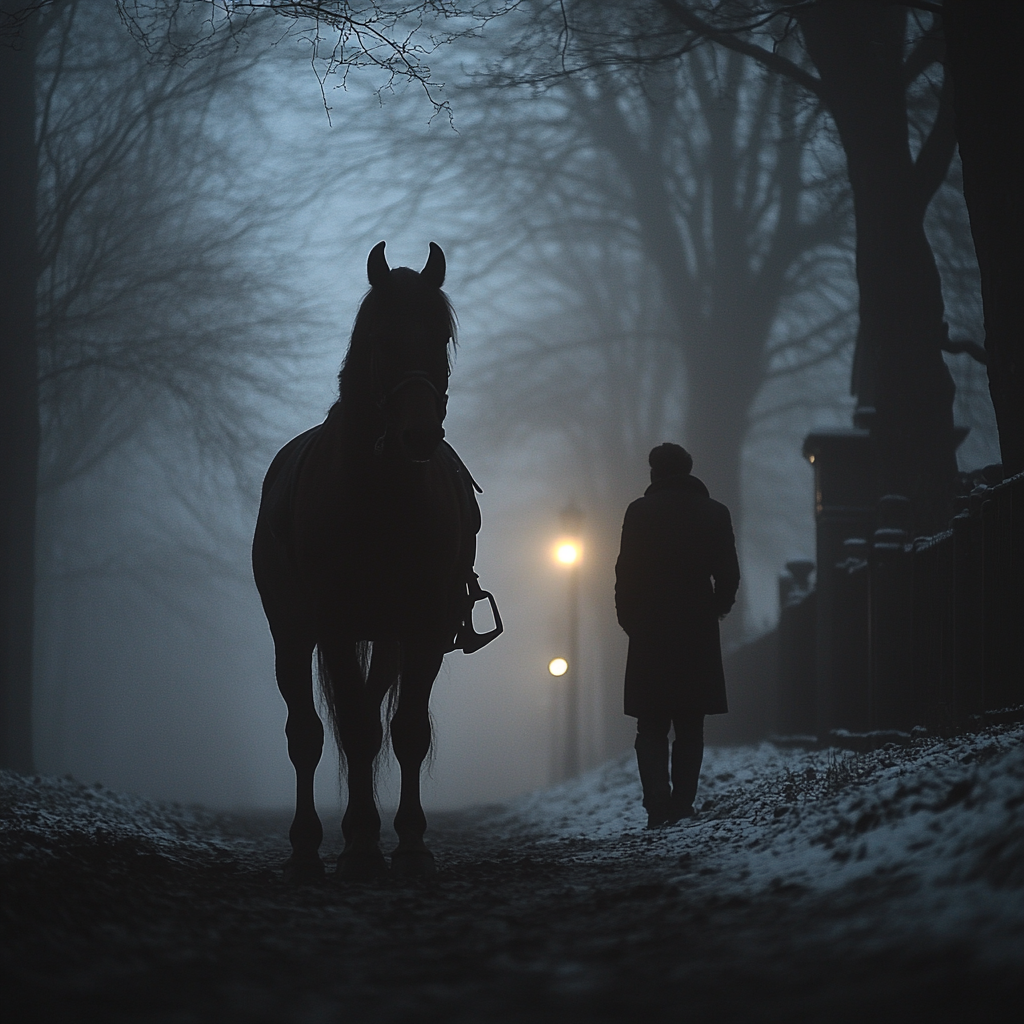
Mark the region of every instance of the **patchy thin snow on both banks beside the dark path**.
MULTIPOLYGON (((888 941, 926 929, 969 937, 993 966, 1024 962, 1022 724, 863 754, 709 748, 697 806, 693 819, 644 828, 630 753, 485 812, 474 827, 488 845, 555 860, 641 856, 668 883, 722 898, 791 893, 850 905, 869 892, 877 915, 884 893, 888 941)), ((251 844, 200 808, 0 773, 0 860, 78 846, 186 865, 245 857, 251 844)))

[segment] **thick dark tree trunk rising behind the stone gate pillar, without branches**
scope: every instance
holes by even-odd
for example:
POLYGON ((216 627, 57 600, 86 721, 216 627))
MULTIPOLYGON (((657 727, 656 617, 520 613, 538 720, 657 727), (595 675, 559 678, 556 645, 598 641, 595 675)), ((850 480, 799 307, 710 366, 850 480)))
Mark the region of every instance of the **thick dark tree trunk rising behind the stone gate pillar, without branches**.
POLYGON ((834 0, 799 15, 846 152, 857 230, 860 327, 854 393, 877 411, 881 493, 911 501, 913 525, 948 521, 956 473, 941 283, 925 234, 930 196, 911 159, 905 11, 834 0))

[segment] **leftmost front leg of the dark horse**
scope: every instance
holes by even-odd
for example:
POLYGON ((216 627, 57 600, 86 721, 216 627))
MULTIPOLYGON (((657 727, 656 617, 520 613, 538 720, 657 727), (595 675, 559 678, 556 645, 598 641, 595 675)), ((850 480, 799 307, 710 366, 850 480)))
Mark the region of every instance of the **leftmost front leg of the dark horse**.
POLYGON ((313 803, 313 775, 324 752, 324 723, 313 706, 312 645, 275 641, 278 687, 288 705, 288 757, 295 767, 295 817, 289 830, 292 856, 285 864, 289 882, 324 878, 319 846, 324 827, 313 803))

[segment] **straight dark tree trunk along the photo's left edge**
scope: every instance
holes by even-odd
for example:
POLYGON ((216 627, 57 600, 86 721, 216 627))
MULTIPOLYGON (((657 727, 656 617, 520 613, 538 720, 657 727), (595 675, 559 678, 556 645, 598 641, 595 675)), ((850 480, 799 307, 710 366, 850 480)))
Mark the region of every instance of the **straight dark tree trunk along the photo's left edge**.
MULTIPOLYGON (((26 6, 4 2, 9 15, 26 6)), ((0 767, 32 771, 39 401, 35 32, 0 41, 0 767)))

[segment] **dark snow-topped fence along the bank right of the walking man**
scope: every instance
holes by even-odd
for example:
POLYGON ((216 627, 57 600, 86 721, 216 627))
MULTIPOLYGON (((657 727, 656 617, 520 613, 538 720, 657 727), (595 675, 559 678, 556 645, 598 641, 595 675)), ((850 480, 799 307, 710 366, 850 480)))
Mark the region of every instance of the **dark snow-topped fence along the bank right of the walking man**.
POLYGON ((1024 474, 977 486, 949 529, 912 542, 904 502, 884 498, 870 540, 844 546, 826 631, 814 591, 783 585, 778 732, 945 730, 1024 703, 1024 474), (831 671, 815 679, 822 635, 831 671))

